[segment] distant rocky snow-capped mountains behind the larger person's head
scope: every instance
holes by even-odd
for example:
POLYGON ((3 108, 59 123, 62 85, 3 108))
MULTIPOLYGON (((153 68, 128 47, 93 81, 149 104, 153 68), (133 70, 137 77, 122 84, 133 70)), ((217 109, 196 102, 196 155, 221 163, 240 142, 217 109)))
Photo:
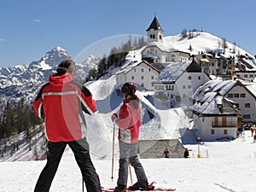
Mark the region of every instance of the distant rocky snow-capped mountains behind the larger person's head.
MULTIPOLYGON (((0 67, 0 115, 7 101, 18 102, 26 98, 32 102, 38 89, 47 82, 49 74, 61 61, 71 59, 65 49, 56 47, 48 51, 39 61, 32 61, 27 65, 15 67, 0 67)), ((76 79, 83 82, 92 67, 96 67, 99 58, 90 55, 82 64, 77 64, 76 79)))

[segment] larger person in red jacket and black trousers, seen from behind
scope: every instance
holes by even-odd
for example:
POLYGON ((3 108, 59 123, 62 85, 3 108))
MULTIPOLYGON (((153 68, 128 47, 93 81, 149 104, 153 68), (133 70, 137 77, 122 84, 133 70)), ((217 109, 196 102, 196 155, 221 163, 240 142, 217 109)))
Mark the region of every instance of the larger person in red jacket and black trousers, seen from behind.
POLYGON ((94 113, 96 102, 90 90, 84 86, 80 89, 79 84, 74 81, 75 63, 72 60, 62 61, 56 71, 56 74, 50 74, 49 82, 44 84, 33 102, 35 113, 44 119, 45 133, 49 141, 47 163, 34 191, 49 191, 67 144, 73 150, 87 191, 102 191, 99 177, 90 160, 83 114, 83 111, 94 113))

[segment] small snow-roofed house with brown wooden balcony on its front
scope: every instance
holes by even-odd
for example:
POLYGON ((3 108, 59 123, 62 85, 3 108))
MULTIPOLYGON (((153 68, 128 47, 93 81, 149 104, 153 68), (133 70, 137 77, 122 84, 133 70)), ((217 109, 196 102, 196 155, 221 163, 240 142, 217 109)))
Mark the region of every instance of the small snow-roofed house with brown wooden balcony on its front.
POLYGON ((231 102, 218 92, 207 92, 193 106, 194 128, 202 141, 236 138, 241 113, 231 102))

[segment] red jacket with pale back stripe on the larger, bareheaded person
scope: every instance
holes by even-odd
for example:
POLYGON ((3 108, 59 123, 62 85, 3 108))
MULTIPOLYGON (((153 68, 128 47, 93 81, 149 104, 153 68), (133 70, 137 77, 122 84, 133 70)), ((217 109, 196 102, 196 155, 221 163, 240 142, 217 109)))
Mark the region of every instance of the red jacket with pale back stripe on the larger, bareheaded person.
POLYGON ((50 142, 71 142, 85 137, 85 113, 96 111, 90 90, 74 82, 70 73, 51 74, 44 84, 33 108, 44 119, 45 132, 50 142))

